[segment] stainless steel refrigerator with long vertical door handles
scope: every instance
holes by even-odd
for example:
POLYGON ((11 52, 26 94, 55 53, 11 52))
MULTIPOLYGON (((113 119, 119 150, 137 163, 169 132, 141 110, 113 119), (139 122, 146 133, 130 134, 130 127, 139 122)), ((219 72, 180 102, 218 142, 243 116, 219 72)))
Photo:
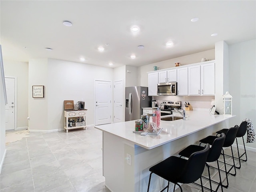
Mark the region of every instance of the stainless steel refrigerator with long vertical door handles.
POLYGON ((148 96, 147 87, 125 88, 125 121, 140 119, 142 107, 151 106, 151 96, 148 96))

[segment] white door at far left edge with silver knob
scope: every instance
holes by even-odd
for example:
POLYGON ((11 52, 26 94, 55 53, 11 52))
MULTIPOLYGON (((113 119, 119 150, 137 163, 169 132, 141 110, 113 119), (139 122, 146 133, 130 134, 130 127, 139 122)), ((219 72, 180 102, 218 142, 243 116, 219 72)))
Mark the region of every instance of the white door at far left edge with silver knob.
POLYGON ((15 79, 5 78, 6 94, 8 104, 5 106, 5 129, 15 128, 15 79))

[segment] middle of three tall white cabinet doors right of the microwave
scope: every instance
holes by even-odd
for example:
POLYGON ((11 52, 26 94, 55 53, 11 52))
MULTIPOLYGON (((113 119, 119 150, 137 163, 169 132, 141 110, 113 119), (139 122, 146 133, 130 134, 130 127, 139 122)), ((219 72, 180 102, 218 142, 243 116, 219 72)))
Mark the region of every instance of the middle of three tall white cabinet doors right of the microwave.
POLYGON ((188 94, 201 95, 200 65, 188 67, 188 94))

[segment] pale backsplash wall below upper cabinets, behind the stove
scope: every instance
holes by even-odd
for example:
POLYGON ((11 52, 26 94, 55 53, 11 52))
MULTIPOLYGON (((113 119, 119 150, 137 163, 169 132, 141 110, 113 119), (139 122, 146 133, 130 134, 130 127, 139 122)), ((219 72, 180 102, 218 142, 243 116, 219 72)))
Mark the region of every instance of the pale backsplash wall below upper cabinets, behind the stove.
POLYGON ((158 106, 162 101, 181 101, 182 108, 185 108, 185 102, 189 102, 193 110, 209 110, 214 96, 153 96, 152 99, 156 100, 158 106))

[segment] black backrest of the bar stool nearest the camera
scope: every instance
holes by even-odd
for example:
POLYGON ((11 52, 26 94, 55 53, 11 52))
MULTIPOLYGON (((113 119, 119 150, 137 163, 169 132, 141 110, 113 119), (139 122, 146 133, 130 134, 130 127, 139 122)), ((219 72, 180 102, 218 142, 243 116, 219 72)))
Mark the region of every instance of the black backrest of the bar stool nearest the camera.
POLYGON ((210 150, 210 145, 206 144, 202 151, 194 152, 188 158, 184 169, 181 170, 178 182, 192 183, 198 180, 204 171, 206 158, 210 150))

